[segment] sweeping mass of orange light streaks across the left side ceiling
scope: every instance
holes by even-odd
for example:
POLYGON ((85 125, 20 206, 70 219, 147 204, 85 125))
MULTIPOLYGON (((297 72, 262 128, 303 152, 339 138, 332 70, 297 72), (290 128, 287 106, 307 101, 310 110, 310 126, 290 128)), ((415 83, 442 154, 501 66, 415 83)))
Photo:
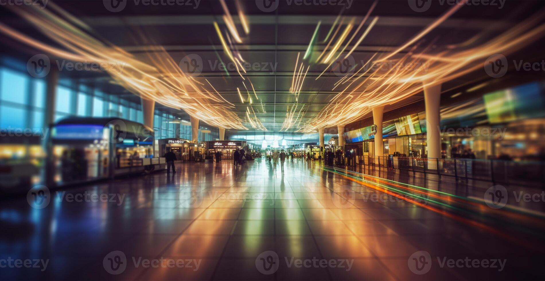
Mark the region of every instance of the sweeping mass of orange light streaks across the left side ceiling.
MULTIPOLYGON (((50 3, 50 6, 54 5, 50 3)), ((53 6, 51 6, 53 7, 53 6)), ((204 84, 181 71, 164 48, 144 53, 150 64, 141 62, 132 54, 109 42, 101 41, 82 30, 80 23, 67 12, 51 13, 48 9, 35 6, 7 6, 23 19, 32 23, 44 35, 70 51, 44 44, 29 38, 0 23, 0 32, 52 56, 78 62, 97 62, 112 64, 107 73, 116 83, 143 99, 154 100, 162 105, 184 109, 191 116, 206 123, 226 129, 246 130, 242 120, 226 104, 217 91, 210 93, 204 84)), ((56 10, 60 8, 56 7, 56 10)))

